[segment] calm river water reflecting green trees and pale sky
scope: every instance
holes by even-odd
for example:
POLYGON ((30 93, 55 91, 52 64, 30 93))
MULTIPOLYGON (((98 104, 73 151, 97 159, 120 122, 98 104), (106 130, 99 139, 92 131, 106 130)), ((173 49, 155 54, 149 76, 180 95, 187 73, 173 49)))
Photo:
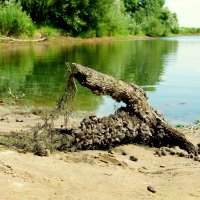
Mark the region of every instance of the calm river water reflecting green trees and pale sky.
MULTIPOLYGON (((65 62, 76 62, 142 86, 153 107, 173 123, 200 119, 200 37, 92 44, 0 44, 0 99, 13 94, 32 106, 54 106, 66 80, 65 62)), ((119 107, 78 86, 77 111, 107 115, 119 107)))

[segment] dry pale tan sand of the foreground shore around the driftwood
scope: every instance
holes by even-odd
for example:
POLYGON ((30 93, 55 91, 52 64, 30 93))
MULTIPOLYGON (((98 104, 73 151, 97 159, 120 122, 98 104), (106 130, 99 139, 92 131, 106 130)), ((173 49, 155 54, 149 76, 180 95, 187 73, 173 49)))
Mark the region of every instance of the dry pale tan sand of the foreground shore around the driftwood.
MULTIPOLYGON (((0 133, 29 129, 40 121, 36 115, 2 111, 0 133)), ((199 130, 183 132, 192 142, 200 142, 199 130)), ((154 152, 125 145, 116 147, 113 154, 82 151, 38 157, 1 147, 0 200, 199 200, 200 162, 157 157, 154 152), (148 186, 156 193, 148 191, 148 186)))

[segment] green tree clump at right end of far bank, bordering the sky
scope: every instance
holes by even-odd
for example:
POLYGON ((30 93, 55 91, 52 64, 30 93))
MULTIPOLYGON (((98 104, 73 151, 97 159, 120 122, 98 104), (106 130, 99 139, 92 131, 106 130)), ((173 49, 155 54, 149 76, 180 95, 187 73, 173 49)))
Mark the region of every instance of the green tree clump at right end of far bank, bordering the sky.
POLYGON ((178 33, 178 19, 164 8, 165 0, 124 0, 126 11, 149 36, 165 36, 178 33))

